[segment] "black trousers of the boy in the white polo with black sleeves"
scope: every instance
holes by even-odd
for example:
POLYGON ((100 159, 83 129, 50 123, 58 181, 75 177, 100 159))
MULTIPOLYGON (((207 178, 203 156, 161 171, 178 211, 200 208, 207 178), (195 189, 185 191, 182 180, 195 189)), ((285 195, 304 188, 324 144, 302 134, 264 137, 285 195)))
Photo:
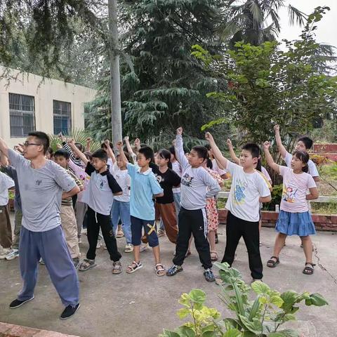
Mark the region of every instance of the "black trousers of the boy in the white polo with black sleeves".
POLYGON ((89 249, 88 253, 86 253, 86 258, 88 258, 89 260, 95 260, 98 234, 101 228, 103 239, 107 246, 107 251, 110 254, 110 260, 113 260, 114 262, 119 261, 119 259, 121 258, 121 254, 117 249, 117 241, 116 237, 114 237, 114 231, 112 230, 110 216, 96 213, 89 206, 86 214, 88 216, 86 232, 89 242, 89 249))

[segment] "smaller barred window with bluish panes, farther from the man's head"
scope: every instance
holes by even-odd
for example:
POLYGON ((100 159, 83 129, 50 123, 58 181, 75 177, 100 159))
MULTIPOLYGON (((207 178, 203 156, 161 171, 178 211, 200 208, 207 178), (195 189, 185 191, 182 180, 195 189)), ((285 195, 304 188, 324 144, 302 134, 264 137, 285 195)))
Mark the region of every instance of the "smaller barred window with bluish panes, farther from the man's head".
POLYGON ((62 132, 70 135, 72 131, 72 104, 53 100, 54 135, 62 132))

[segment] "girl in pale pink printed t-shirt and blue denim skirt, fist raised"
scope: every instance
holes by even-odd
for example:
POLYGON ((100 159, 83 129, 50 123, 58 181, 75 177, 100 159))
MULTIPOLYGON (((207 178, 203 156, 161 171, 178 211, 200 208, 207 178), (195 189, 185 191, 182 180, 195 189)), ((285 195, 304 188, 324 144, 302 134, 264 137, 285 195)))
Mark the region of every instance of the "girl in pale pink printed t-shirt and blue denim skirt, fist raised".
POLYGON ((271 169, 283 176, 283 194, 276 230, 279 232, 275 239, 274 256, 267 261, 268 267, 279 264, 279 253, 284 246, 287 235, 298 235, 303 242, 305 253, 305 268, 303 274, 312 275, 311 234, 316 234, 315 225, 308 209, 308 200, 318 198, 316 183, 308 173, 309 154, 303 151, 293 153, 291 168, 277 165, 269 152, 270 143, 265 142, 265 158, 271 169), (307 194, 307 191, 310 194, 307 194))

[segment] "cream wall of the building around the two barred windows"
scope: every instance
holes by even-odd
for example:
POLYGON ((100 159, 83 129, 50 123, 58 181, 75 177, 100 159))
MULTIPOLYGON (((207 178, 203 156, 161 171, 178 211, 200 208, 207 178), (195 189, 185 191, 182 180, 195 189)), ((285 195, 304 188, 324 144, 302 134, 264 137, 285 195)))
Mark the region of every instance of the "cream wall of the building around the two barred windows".
MULTIPOLYGON (((0 67, 0 74, 3 71, 0 67)), ((8 93, 34 96, 36 130, 53 134, 53 100, 71 103, 72 128, 84 128, 84 103, 93 100, 95 90, 34 74, 19 74, 18 70, 11 70, 11 75, 17 78, 0 79, 0 136, 9 146, 22 143, 25 138, 11 138, 8 93)))

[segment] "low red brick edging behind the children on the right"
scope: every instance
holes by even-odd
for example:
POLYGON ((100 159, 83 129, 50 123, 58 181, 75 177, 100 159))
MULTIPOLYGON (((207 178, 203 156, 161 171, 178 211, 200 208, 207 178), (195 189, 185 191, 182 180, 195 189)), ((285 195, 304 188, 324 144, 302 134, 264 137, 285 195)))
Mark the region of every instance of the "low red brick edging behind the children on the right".
MULTIPOLYGON (((219 221, 225 224, 227 218, 227 209, 219 209, 219 221)), ((275 211, 262 211, 263 227, 275 227, 279 216, 275 211)), ((316 230, 337 232, 337 214, 312 214, 312 221, 315 223, 316 230)))

